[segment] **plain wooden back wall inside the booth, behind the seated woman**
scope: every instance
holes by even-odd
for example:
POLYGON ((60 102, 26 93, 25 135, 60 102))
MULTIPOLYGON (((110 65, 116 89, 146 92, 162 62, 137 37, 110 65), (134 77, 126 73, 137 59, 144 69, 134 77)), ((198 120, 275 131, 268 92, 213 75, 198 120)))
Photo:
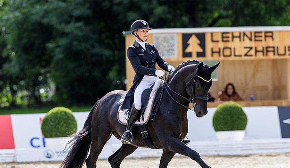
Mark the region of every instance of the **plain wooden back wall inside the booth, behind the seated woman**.
POLYGON ((249 100, 251 93, 255 100, 287 99, 285 69, 285 60, 221 61, 218 81, 213 82, 210 91, 217 98, 218 91, 230 82, 244 100, 249 100))

